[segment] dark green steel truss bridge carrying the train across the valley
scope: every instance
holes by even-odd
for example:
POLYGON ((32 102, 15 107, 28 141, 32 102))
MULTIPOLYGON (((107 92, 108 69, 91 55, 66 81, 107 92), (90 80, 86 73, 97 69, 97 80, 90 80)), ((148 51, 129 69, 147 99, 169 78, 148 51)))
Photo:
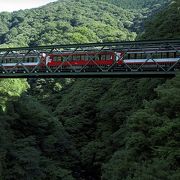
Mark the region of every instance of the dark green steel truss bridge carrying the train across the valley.
MULTIPOLYGON (((108 43, 88 43, 88 44, 69 44, 69 45, 50 45, 37 47, 19 47, 19 48, 0 48, 0 77, 1 78, 38 78, 38 77, 171 77, 180 70, 180 56, 178 55, 177 62, 168 67, 156 62, 153 59, 153 54, 158 51, 171 52, 175 51, 180 54, 180 40, 161 40, 161 41, 128 41, 128 42, 108 42, 108 43), (34 67, 28 67, 23 60, 19 60, 13 67, 7 67, 3 60, 6 57, 18 59, 19 56, 26 58, 27 56, 39 56, 42 53, 46 55, 56 53, 63 54, 71 52, 71 55, 79 52, 124 52, 124 56, 128 52, 141 52, 146 54, 151 51, 151 56, 146 57, 143 64, 129 66, 126 62, 123 63, 123 68, 117 67, 116 63, 110 66, 99 66, 94 63, 92 69, 87 69, 89 62, 94 62, 89 59, 87 63, 81 67, 69 65, 68 69, 63 69, 63 63, 58 67, 49 67, 45 65, 43 68, 37 64, 34 67), (153 61, 156 65, 153 69, 145 68, 146 63, 153 61)), ((68 59, 66 60, 68 62, 68 59)))

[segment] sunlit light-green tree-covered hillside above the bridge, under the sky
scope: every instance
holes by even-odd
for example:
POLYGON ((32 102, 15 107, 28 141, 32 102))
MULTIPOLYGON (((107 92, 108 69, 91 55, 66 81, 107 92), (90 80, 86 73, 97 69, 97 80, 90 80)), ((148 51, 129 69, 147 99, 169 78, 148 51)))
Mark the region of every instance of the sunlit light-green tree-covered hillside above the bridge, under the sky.
POLYGON ((106 2, 60 0, 42 8, 0 14, 1 46, 133 40, 137 12, 106 2), (72 8, 73 7, 73 8, 72 8))

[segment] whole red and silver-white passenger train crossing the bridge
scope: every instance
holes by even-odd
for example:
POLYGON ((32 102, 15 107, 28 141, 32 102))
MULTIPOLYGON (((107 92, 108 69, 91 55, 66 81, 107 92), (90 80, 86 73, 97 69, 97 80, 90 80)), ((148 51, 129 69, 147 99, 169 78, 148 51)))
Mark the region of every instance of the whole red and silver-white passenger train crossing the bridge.
POLYGON ((168 68, 176 64, 180 66, 180 50, 147 50, 147 51, 97 51, 97 52, 57 52, 37 54, 18 54, 0 56, 0 66, 5 69, 16 67, 43 67, 59 70, 92 69, 98 67, 136 68, 154 70, 161 66, 168 68))

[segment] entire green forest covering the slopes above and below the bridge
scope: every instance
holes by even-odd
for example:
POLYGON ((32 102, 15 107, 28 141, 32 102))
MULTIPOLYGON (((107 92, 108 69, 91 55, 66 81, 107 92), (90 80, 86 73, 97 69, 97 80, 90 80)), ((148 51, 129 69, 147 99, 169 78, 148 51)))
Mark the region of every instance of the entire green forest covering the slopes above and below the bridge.
MULTIPOLYGON (((179 9, 179 0, 59 0, 2 12, 0 47, 180 39, 179 9)), ((179 180, 179 109, 178 72, 0 79, 0 180, 179 180)))

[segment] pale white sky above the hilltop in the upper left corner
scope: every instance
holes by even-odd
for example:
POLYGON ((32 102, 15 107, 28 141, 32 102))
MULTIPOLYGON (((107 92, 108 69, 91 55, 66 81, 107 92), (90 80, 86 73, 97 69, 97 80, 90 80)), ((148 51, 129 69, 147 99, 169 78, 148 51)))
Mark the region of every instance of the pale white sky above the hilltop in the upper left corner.
POLYGON ((0 12, 36 8, 53 1, 56 0, 0 0, 0 12))

